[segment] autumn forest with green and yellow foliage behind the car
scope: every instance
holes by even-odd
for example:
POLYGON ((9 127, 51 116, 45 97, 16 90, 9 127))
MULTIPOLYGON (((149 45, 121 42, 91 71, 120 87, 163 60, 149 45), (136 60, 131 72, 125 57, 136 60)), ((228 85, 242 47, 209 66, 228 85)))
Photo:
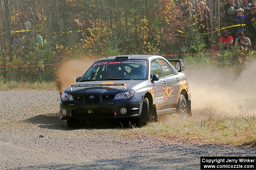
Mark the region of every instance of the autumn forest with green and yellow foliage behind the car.
POLYGON ((69 59, 130 53, 172 55, 239 74, 255 53, 220 48, 225 1, 205 2, 212 9, 213 38, 200 34, 195 1, 193 11, 184 0, 0 0, 0 80, 52 81, 59 63, 69 59), (22 44, 15 48, 17 33, 22 44), (28 43, 36 33, 43 46, 28 43))

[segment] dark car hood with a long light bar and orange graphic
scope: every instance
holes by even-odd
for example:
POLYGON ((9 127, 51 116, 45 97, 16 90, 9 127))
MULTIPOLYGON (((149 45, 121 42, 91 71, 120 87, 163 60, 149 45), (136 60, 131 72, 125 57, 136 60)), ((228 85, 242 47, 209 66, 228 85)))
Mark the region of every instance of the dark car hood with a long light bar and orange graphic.
POLYGON ((71 95, 115 95, 142 82, 145 80, 77 82, 66 88, 65 92, 71 95))

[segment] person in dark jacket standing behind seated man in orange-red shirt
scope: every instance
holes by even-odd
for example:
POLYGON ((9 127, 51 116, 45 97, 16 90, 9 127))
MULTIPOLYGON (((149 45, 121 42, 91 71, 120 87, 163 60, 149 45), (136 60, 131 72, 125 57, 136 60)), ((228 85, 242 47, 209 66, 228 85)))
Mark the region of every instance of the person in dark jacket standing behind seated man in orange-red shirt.
MULTIPOLYGON (((236 4, 233 4, 233 0, 228 0, 228 3, 224 5, 225 10, 225 21, 227 26, 236 25, 235 17, 238 11, 238 6, 236 4)), ((229 34, 233 37, 236 36, 236 28, 231 27, 229 28, 229 34)))

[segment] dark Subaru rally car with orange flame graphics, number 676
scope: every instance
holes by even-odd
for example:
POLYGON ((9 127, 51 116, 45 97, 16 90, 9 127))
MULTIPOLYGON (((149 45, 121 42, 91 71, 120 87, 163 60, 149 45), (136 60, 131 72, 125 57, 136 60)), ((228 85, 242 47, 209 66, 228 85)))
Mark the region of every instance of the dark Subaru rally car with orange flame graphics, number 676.
POLYGON ((60 119, 75 127, 79 120, 136 118, 144 126, 158 114, 178 112, 185 120, 192 114, 183 70, 182 60, 158 55, 101 58, 63 91, 60 119))

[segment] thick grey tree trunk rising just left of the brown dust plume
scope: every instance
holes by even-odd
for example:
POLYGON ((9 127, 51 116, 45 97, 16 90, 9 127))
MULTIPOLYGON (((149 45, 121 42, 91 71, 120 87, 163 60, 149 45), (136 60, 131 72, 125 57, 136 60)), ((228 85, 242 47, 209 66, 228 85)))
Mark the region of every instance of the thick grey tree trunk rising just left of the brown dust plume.
MULTIPOLYGON (((61 35, 60 35, 60 29, 59 29, 59 16, 58 16, 58 6, 57 6, 57 0, 53 1, 53 11, 54 11, 54 31, 56 32, 56 42, 57 45, 61 45, 60 41, 61 41, 61 35)), ((62 61, 59 49, 56 49, 56 53, 57 53, 57 58, 58 58, 58 63, 60 63, 62 61)))

